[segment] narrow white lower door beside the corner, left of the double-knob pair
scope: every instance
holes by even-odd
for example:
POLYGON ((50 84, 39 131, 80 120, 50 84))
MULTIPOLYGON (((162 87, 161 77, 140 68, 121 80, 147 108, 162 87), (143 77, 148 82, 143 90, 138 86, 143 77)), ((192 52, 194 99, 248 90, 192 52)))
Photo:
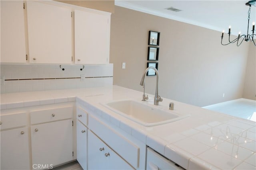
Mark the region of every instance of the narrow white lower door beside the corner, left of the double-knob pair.
POLYGON ((76 121, 76 155, 84 170, 87 169, 87 127, 76 121))

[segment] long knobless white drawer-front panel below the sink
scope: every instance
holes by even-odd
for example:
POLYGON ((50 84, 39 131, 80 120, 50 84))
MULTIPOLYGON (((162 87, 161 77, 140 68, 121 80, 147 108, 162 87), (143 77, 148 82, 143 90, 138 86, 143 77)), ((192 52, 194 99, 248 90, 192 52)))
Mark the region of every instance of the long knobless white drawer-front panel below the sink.
POLYGON ((102 139, 102 141, 107 143, 109 147, 115 150, 135 169, 139 167, 139 147, 134 145, 128 139, 116 133, 108 125, 104 124, 102 121, 92 115, 89 115, 88 122, 89 129, 97 134, 98 137, 102 139))

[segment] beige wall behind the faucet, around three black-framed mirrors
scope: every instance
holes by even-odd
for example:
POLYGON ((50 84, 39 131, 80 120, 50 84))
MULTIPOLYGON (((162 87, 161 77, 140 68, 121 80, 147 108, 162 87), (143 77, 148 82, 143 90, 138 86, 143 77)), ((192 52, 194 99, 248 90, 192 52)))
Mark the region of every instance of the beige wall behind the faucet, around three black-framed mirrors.
MULTIPOLYGON (((248 43, 222 46, 221 32, 118 6, 111 16, 113 84, 143 90, 150 30, 160 32, 160 96, 196 106, 243 97, 248 43)), ((147 93, 154 94, 155 81, 146 77, 147 93)))

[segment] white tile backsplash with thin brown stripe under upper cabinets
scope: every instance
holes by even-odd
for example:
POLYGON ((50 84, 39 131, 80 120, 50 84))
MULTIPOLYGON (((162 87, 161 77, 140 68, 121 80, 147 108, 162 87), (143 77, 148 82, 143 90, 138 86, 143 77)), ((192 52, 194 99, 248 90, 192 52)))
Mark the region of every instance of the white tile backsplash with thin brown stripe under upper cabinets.
POLYGON ((62 65, 61 68, 65 70, 62 70, 60 65, 1 64, 0 66, 0 74, 6 80, 1 84, 1 94, 101 87, 113 84, 113 64, 84 65, 83 70, 80 70, 83 68, 80 65, 62 65), (86 76, 84 81, 80 80, 81 74, 86 76))

